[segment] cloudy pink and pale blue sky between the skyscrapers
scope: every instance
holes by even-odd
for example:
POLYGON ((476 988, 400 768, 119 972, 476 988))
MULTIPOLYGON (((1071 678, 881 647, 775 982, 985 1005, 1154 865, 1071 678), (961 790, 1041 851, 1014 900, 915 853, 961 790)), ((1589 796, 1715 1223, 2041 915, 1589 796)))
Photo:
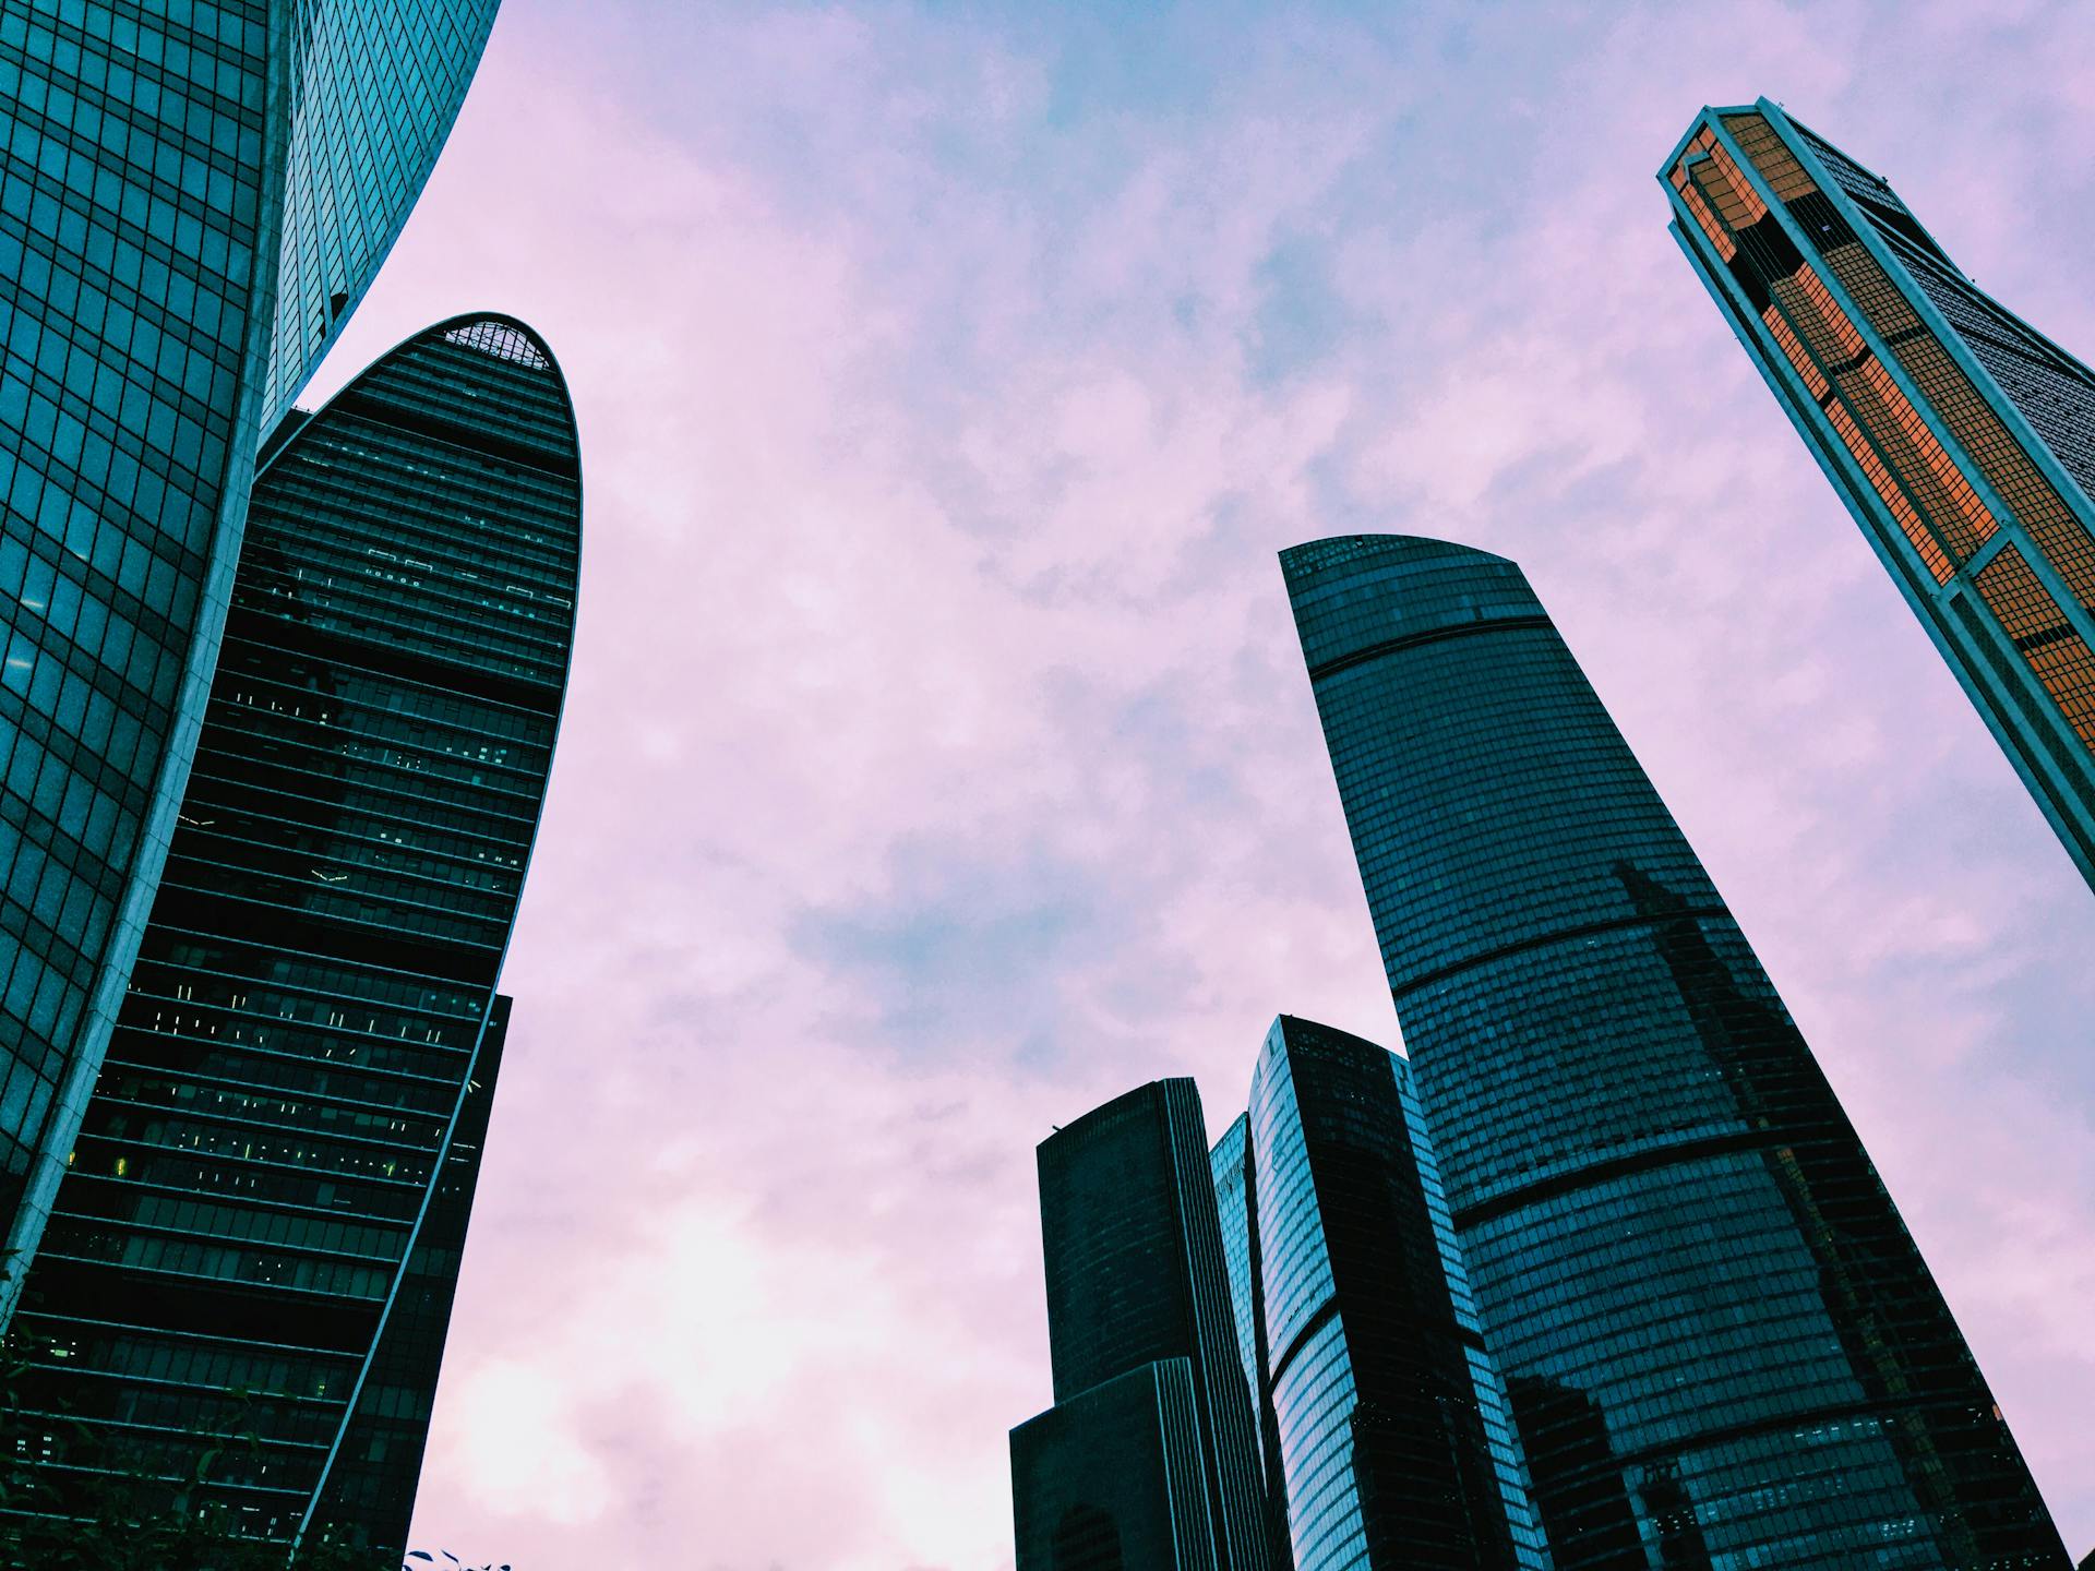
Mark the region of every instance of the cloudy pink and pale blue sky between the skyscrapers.
POLYGON ((415 1544, 997 1571, 1033 1146, 1397 1045, 1274 553, 1527 570, 2095 1546, 2095 899, 1666 233, 1783 101, 2095 354, 2095 13, 509 0, 304 402, 538 327, 580 628, 415 1544), (1982 15, 1984 13, 1984 15, 1982 15))

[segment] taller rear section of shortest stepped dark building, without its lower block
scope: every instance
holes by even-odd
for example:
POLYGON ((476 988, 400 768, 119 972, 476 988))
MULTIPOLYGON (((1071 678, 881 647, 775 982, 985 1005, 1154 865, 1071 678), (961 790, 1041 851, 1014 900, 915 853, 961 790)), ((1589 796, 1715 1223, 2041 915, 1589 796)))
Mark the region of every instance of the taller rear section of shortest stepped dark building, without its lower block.
MULTIPOLYGON (((1039 1148, 1039 1186, 1056 1408, 1182 1359, 1215 1563, 1267 1571, 1257 1424, 1194 1083, 1154 1081, 1056 1131, 1039 1148)), ((1014 1431, 1014 1468, 1016 1456, 1014 1431)), ((1014 1485, 1024 1485, 1022 1470, 1014 1485)))

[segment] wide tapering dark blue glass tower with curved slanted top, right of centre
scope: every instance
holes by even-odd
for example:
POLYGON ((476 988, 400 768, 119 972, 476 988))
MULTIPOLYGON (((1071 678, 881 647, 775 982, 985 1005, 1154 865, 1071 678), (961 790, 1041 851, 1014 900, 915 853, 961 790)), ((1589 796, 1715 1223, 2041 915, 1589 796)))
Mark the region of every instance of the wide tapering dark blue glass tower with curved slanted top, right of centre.
MULTIPOLYGON (((1559 1571, 2064 1567, 1854 1129, 1521 570, 1397 536, 1282 568, 1559 1571)), ((1270 1286, 1265 1313, 1286 1338, 1270 1286)))

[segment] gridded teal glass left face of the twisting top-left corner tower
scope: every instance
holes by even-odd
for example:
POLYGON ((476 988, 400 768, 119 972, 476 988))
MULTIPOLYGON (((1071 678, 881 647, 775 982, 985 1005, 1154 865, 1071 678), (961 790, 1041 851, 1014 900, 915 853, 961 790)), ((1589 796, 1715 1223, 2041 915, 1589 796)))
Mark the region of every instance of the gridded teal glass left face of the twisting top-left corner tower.
POLYGON ((0 10, 0 1227, 138 936, 124 892, 239 505, 266 13, 0 10))

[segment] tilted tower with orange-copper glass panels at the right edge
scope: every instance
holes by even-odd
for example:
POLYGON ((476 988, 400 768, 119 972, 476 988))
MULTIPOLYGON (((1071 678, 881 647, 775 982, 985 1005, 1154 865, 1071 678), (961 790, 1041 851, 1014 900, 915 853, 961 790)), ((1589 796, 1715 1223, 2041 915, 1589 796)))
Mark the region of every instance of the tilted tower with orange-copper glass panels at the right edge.
POLYGON ((1703 109, 1674 237, 2095 884, 2095 371, 1774 103, 1703 109))

